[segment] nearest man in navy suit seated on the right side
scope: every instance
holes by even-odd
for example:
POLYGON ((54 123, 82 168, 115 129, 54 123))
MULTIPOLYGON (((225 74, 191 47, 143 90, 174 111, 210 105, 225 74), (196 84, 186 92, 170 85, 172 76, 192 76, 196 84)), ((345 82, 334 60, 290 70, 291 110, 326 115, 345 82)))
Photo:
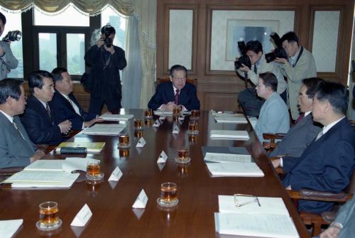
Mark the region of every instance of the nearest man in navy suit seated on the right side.
MULTIPOLYGON (((321 82, 313 99, 312 115, 324 127, 300 158, 284 157, 273 161, 287 173, 286 189, 310 189, 340 193, 349 184, 355 164, 355 133, 346 119, 349 91, 335 82, 321 82)), ((300 200, 298 209, 322 213, 332 202, 300 200)))

